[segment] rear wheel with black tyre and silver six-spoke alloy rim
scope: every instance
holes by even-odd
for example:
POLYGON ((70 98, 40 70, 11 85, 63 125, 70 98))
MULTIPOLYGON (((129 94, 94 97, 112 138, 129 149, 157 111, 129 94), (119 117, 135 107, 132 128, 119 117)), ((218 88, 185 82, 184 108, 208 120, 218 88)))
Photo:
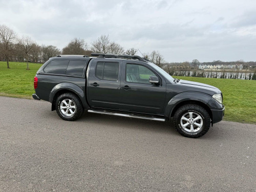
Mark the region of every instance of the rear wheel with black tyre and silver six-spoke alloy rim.
POLYGON ((56 99, 55 109, 58 116, 66 121, 75 121, 83 114, 83 105, 73 93, 63 93, 56 99))

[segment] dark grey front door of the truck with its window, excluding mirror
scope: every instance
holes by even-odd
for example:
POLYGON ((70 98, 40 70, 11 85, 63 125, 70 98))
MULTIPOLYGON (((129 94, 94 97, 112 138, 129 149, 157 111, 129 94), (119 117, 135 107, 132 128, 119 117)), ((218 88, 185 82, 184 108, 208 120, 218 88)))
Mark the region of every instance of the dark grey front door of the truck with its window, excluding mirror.
POLYGON ((123 61, 120 85, 120 109, 130 112, 162 114, 166 83, 157 72, 143 62, 123 61), (149 82, 157 76, 159 84, 149 82))

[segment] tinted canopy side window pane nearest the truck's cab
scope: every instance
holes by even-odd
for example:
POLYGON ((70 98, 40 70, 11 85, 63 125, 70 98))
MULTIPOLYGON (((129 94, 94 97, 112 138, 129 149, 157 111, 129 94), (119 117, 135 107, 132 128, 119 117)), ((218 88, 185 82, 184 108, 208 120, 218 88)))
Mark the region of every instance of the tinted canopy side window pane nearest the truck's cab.
POLYGON ((69 66, 67 68, 66 74, 67 75, 79 75, 82 76, 83 74, 83 67, 86 63, 85 60, 70 60, 69 66))

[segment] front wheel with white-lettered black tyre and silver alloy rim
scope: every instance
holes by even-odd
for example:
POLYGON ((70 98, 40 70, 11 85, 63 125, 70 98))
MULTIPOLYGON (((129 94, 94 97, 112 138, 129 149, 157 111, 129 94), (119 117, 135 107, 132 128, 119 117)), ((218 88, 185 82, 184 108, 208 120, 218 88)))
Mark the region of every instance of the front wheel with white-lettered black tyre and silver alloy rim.
POLYGON ((202 137, 210 128, 210 116, 202 106, 186 104, 175 112, 174 126, 184 137, 202 137))

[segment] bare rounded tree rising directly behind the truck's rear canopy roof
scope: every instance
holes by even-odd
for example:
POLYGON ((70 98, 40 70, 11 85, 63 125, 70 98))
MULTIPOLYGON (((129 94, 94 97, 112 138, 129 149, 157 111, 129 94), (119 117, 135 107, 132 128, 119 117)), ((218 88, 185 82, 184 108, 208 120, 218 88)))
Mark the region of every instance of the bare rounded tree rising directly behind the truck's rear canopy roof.
POLYGON ((64 55, 84 55, 88 45, 83 39, 74 38, 62 49, 64 55))

